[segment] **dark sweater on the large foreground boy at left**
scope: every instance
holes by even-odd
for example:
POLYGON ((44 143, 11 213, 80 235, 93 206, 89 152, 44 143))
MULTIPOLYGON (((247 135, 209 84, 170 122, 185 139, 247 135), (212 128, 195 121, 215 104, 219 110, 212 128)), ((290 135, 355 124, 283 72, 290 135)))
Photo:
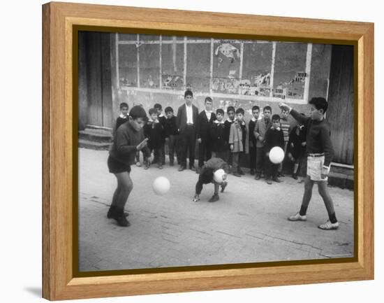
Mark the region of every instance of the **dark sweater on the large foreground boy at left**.
MULTIPOLYGON (((124 164, 135 163, 135 155, 138 146, 143 140, 143 129, 135 130, 131 123, 124 123, 116 130, 115 140, 110 149, 110 156, 124 164)), ((147 147, 142 148, 142 153, 148 157, 151 155, 147 147)))

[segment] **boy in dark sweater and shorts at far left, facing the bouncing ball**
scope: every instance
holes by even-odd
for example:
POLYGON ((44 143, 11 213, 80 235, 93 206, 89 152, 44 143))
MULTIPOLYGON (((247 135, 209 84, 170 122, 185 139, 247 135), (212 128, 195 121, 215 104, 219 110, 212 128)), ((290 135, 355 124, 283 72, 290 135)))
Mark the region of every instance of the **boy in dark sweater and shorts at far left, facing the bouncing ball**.
POLYGON ((147 139, 144 137, 142 127, 145 125, 147 115, 140 106, 133 106, 129 112, 128 122, 121 125, 117 131, 108 157, 108 169, 117 178, 117 188, 113 194, 112 204, 107 217, 115 219, 120 226, 129 226, 124 206, 133 188, 131 180, 131 164, 135 163, 136 151, 149 157, 147 139))

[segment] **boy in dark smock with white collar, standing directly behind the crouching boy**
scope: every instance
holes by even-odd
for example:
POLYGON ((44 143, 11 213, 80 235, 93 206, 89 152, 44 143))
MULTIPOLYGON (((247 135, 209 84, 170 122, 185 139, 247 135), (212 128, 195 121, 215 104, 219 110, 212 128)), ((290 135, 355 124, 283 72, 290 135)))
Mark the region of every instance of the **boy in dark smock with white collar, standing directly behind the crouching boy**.
POLYGON ((210 129, 210 136, 212 139, 212 157, 221 158, 226 161, 228 141, 223 119, 224 111, 221 108, 218 108, 216 110, 216 120, 214 120, 210 129))

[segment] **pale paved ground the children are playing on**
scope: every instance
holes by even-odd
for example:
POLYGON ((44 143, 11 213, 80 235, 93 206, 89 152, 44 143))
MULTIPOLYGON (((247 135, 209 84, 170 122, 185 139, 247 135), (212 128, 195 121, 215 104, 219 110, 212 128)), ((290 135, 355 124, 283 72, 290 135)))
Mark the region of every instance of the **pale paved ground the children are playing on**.
POLYGON ((282 178, 267 185, 249 174, 230 175, 226 192, 209 203, 213 185, 193 202, 198 175, 177 166, 148 170, 132 167, 133 191, 126 204, 130 227, 106 214, 116 188, 108 172, 108 152, 79 148, 80 271, 217 265, 246 262, 345 258, 353 256, 353 191, 330 188, 337 231, 318 229, 327 213, 317 186, 307 222, 286 218, 300 209, 303 183, 282 178), (164 196, 152 182, 166 176, 164 196))

